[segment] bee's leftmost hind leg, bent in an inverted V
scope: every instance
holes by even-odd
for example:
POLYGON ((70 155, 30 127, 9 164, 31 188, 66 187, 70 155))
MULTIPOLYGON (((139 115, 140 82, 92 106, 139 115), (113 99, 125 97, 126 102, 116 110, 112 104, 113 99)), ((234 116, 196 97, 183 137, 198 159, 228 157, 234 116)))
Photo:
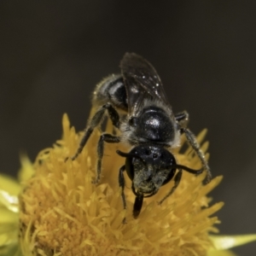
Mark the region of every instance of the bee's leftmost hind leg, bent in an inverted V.
POLYGON ((72 160, 75 160, 82 152, 85 144, 90 138, 92 131, 96 128, 97 125, 100 125, 106 110, 108 111, 109 118, 111 119, 113 125, 119 128, 119 113, 117 113, 117 111, 113 108, 113 106, 110 103, 103 105, 102 108, 100 108, 90 120, 90 125, 85 129, 84 136, 82 137, 79 143, 79 148, 71 158, 72 160))

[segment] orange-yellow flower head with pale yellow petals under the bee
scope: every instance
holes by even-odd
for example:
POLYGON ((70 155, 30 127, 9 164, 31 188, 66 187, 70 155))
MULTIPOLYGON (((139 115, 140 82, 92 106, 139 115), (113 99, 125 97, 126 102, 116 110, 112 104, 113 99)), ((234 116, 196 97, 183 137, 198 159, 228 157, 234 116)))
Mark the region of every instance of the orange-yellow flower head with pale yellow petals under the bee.
MULTIPOLYGON (((209 236, 209 233, 218 232, 214 225, 219 221, 212 214, 223 203, 209 206, 211 199, 207 194, 222 177, 202 185, 204 175, 195 177, 183 173, 172 196, 161 206, 157 204, 170 190, 173 181, 162 187, 157 195, 146 199, 142 212, 134 219, 134 195, 127 176, 127 210, 123 209, 120 197, 118 172, 124 159, 115 153, 119 145, 106 145, 101 183, 95 185, 91 180, 96 174, 99 131, 92 134, 76 160, 65 161, 76 151, 81 134, 70 128, 67 115, 62 124, 62 139, 53 148, 41 151, 34 164, 23 158, 21 193, 18 183, 0 177, 0 255, 227 256, 234 255, 223 251, 230 248, 232 239, 233 246, 241 239, 242 242, 256 240, 255 236, 209 236), (124 218, 126 224, 123 224, 124 218)), ((199 143, 205 134, 206 131, 202 131, 198 136, 199 143)), ((208 143, 202 144, 201 150, 206 152, 207 146, 208 143)), ((125 151, 125 148, 119 149, 125 151)), ((174 154, 183 165, 200 167, 191 148, 183 154, 178 151, 174 154)))

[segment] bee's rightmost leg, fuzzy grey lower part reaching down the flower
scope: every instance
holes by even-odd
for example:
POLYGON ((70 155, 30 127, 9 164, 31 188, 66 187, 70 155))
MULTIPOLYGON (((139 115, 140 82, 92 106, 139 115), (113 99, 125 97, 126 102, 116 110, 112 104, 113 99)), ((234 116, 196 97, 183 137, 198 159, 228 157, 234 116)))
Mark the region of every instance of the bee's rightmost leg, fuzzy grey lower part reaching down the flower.
POLYGON ((205 159, 205 154, 203 154, 203 152, 200 149, 200 145, 196 141, 195 135, 187 128, 182 128, 180 131, 181 133, 185 133, 188 143, 195 150, 195 153, 200 158, 201 164, 204 170, 207 172, 206 183, 209 183, 212 180, 212 173, 210 171, 210 167, 208 166, 207 160, 205 159))

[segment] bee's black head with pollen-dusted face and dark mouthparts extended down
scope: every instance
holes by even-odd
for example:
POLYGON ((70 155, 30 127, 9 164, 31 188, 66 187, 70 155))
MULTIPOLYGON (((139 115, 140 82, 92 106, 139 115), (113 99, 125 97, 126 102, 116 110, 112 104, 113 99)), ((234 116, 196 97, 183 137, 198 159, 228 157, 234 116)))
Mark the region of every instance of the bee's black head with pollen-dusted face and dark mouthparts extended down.
POLYGON ((131 178, 131 189, 136 195, 133 215, 136 218, 143 206, 143 197, 155 195, 176 172, 176 160, 166 148, 151 144, 138 145, 130 153, 118 151, 124 156, 125 170, 131 178))

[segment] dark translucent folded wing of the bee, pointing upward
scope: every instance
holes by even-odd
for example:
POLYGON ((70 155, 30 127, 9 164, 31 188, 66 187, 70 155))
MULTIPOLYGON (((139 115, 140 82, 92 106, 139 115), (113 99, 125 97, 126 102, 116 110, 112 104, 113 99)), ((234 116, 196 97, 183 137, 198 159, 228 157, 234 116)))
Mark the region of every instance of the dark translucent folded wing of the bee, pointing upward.
POLYGON ((140 55, 126 53, 120 67, 125 80, 130 114, 136 115, 147 98, 159 99, 172 112, 160 77, 148 61, 140 55))

